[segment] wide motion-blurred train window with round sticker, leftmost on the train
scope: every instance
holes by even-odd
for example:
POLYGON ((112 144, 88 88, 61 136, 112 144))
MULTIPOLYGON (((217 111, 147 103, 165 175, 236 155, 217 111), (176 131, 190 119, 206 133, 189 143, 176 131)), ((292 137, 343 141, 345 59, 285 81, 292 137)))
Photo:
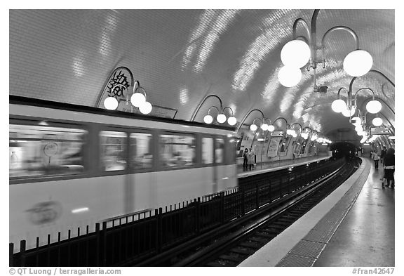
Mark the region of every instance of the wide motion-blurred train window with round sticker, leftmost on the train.
POLYGON ((10 124, 10 178, 72 175, 84 171, 87 131, 43 125, 10 124))

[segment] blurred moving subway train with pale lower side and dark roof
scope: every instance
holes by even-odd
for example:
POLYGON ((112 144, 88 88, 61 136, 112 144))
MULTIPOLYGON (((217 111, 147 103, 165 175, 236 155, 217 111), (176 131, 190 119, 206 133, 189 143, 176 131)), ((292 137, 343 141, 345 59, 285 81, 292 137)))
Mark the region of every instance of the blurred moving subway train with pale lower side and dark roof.
POLYGON ((227 126, 10 96, 10 242, 234 188, 227 126))

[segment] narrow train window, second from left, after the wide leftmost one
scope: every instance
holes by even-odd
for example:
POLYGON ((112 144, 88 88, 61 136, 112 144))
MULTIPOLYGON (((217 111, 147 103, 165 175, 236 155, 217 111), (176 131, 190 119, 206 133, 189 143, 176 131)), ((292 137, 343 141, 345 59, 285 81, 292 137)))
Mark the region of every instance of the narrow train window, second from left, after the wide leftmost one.
POLYGON ((119 131, 100 132, 100 157, 104 171, 126 169, 126 133, 119 131))

